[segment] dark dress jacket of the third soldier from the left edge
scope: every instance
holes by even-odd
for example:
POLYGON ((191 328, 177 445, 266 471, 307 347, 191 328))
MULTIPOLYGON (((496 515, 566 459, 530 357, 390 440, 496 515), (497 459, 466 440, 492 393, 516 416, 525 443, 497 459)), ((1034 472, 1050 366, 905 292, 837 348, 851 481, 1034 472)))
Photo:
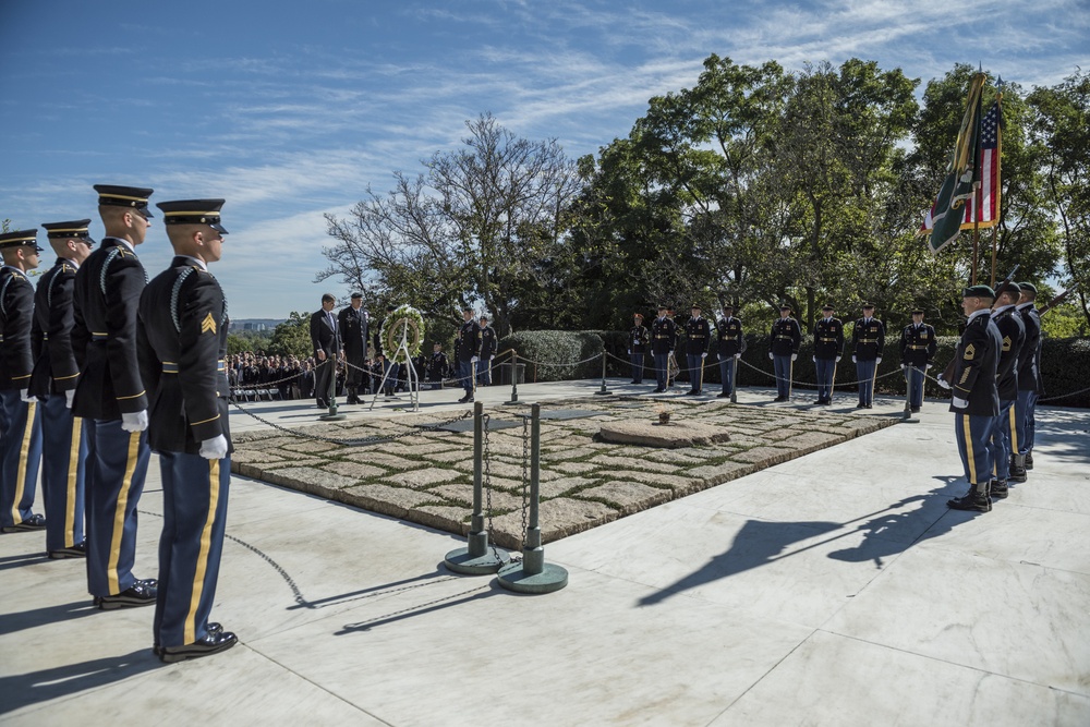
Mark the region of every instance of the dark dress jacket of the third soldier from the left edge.
POLYGON ((136 360, 136 307, 146 284, 136 253, 117 238, 104 238, 75 274, 72 341, 83 362, 76 416, 111 421, 147 409, 136 360))

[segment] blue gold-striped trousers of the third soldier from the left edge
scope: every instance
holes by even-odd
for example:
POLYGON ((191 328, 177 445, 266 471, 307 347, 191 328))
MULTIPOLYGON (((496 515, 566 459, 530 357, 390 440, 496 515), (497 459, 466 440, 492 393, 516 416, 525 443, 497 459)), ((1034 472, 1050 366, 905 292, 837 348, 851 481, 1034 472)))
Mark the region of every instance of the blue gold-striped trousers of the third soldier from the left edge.
POLYGON ((87 464, 87 590, 112 596, 136 582, 136 505, 152 450, 147 432, 129 433, 121 420, 90 420, 87 464))

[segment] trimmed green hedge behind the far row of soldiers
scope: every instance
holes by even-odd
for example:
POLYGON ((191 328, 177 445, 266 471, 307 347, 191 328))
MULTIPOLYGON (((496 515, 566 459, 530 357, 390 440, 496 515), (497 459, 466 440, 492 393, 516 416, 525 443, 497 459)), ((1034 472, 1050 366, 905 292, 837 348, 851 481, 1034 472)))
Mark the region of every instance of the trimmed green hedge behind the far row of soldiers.
MULTIPOLYGON (((886 337, 885 354, 879 365, 877 390, 882 393, 893 393, 905 396, 905 377, 898 376, 896 372, 900 368, 900 356, 898 353, 898 334, 886 337), (889 375, 893 374, 893 375, 889 375), (881 378, 883 377, 884 378, 881 378)), ((747 365, 738 366, 739 386, 775 386, 775 378, 772 375, 772 361, 768 360, 768 337, 764 334, 749 334, 746 336, 747 350, 742 354, 742 361, 747 365), (753 371, 753 366, 760 371, 753 371), (762 373, 767 372, 767 374, 762 373)), ((935 353, 935 367, 928 372, 931 376, 937 376, 954 356, 957 349, 957 337, 940 336, 937 339, 938 350, 935 353)), ((513 348, 519 352, 519 360, 530 359, 526 365, 525 380, 532 381, 561 381, 579 378, 600 378, 602 376, 602 360, 578 364, 565 365, 561 362, 577 362, 590 359, 603 351, 607 356, 606 373, 609 376, 627 378, 631 374, 628 364, 628 331, 618 330, 528 330, 507 336, 500 341, 499 350, 506 351, 513 348), (537 362, 535 365, 533 362, 537 362), (548 365, 544 365, 548 364, 548 365), (560 365, 554 365, 560 364, 560 365)), ((685 341, 683 337, 678 340, 676 351, 678 363, 685 367, 685 341)), ((797 381, 814 381, 816 373, 814 371, 813 338, 804 336, 802 347, 799 350, 798 361, 795 362, 794 378, 797 381)), ((509 361, 504 358, 505 363, 509 361)), ((644 378, 654 379, 653 362, 650 355, 644 360, 646 371, 644 378)), ((1041 349, 1041 371, 1044 378, 1044 393, 1042 399, 1046 404, 1057 407, 1083 407, 1090 408, 1090 391, 1079 391, 1090 387, 1090 339, 1087 338, 1063 338, 1044 339, 1041 349)), ((856 367, 851 363, 851 356, 845 355, 837 365, 837 380, 855 380, 856 367)), ((686 372, 682 371, 679 377, 681 381, 688 381, 686 372)), ((705 386, 718 385, 719 366, 714 353, 707 356, 704 369, 705 386)), ((796 389, 813 389, 812 384, 796 384, 796 389)), ((856 385, 837 385, 837 391, 855 391, 856 385)), ((942 389, 931 379, 925 380, 924 393, 928 397, 946 398, 948 392, 942 389)))

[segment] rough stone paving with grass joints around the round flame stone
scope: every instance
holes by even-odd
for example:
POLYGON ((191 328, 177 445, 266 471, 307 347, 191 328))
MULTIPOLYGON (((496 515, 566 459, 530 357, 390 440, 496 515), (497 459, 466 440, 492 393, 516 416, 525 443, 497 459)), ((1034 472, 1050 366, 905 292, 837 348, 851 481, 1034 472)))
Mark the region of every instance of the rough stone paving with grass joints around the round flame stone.
MULTIPOLYGON (((542 409, 601 412, 585 419, 542 420, 541 529, 546 543, 896 423, 892 417, 858 413, 677 402, 670 404, 673 416, 724 426, 731 440, 663 450, 596 440, 598 426, 606 422, 657 420, 661 402, 639 397, 567 399, 542 409), (571 465, 578 473, 570 471, 571 465)), ((496 421, 521 421, 517 410, 486 413, 496 421)), ((365 420, 300 429, 340 443, 283 432, 247 432, 234 439, 231 468, 256 480, 465 535, 472 505, 462 490, 473 483, 472 433, 419 428, 448 419, 422 414, 399 416, 396 423, 365 420), (344 444, 375 436, 397 438, 364 446, 344 444), (346 476, 352 463, 377 473, 346 476)), ((485 485, 501 495, 497 499, 521 499, 528 484, 521 478, 522 452, 529 451, 523 447, 523 429, 488 433, 487 449, 492 476, 485 485)), ((529 464, 526 472, 529 476, 529 464)), ((521 509, 496 504, 492 516, 496 545, 520 548, 521 509)))

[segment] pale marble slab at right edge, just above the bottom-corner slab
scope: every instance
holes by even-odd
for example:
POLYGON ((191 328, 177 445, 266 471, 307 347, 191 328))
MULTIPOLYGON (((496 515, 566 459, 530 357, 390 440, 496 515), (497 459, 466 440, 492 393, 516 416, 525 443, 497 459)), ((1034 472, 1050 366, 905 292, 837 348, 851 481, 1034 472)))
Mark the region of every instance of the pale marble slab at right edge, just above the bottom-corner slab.
POLYGON ((1090 696, 1090 577, 921 545, 823 629, 1090 696))

